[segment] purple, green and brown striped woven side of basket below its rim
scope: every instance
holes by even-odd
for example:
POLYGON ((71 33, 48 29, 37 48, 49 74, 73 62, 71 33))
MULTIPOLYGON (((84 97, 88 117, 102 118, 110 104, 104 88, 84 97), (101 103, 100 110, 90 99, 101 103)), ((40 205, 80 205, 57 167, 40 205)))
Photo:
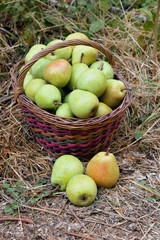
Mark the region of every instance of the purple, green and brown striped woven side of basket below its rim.
POLYGON ((100 134, 97 135, 97 128, 91 130, 81 131, 82 136, 88 136, 89 138, 81 138, 77 139, 77 141, 73 141, 73 143, 68 143, 68 139, 74 139, 74 135, 80 134, 77 130, 66 130, 66 129, 59 129, 55 125, 49 125, 43 122, 39 117, 33 114, 25 107, 21 107, 24 113, 28 113, 31 117, 26 116, 26 120, 28 124, 31 126, 33 133, 36 136, 37 141, 40 145, 42 145, 48 152, 51 154, 53 153, 54 156, 59 156, 62 154, 74 154, 76 155, 77 152, 81 152, 82 156, 85 158, 86 156, 93 156, 98 151, 106 151, 107 148, 110 146, 111 142, 115 138, 115 134, 119 125, 123 119, 121 117, 119 120, 117 119, 116 124, 106 124, 105 126, 98 129, 100 134), (106 131, 105 131, 106 128, 106 131), (46 132, 47 135, 41 134, 41 130, 46 132), (93 134, 93 138, 92 137, 93 134), (68 135, 68 139, 67 136, 68 135), (57 136, 57 138, 56 138, 57 136), (60 141, 58 137, 65 137, 64 140, 60 141), (48 138, 48 139, 47 139, 48 138), (52 140, 53 138, 53 140, 52 140), (48 141, 47 141, 48 140, 48 141), (92 149, 92 151, 91 151, 92 149))

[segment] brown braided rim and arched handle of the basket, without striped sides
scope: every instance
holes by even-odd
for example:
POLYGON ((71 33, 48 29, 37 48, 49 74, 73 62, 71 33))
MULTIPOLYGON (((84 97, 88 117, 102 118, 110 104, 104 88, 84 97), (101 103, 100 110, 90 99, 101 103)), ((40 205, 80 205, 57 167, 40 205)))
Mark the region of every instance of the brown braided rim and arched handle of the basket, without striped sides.
POLYGON ((124 113, 126 112, 128 106, 130 105, 131 89, 130 89, 128 82, 122 77, 120 72, 117 70, 112 53, 110 51, 108 51, 107 48, 104 47, 103 45, 101 45, 97 42, 91 41, 91 40, 73 39, 73 40, 68 40, 68 41, 63 41, 63 42, 54 44, 52 46, 49 46, 49 47, 43 49, 40 53, 38 53, 34 57, 32 57, 32 59, 27 64, 24 65, 24 59, 22 59, 11 68, 10 75, 11 75, 12 87, 15 92, 15 99, 17 100, 19 105, 22 107, 23 106, 26 107, 30 112, 32 112, 37 117, 41 118, 43 121, 50 123, 50 124, 56 124, 57 126, 60 126, 62 128, 66 128, 66 129, 81 129, 82 127, 87 129, 87 128, 90 128, 93 126, 98 127, 98 126, 106 124, 106 121, 108 121, 108 122, 113 121, 113 120, 116 121, 116 119, 121 118, 124 115, 124 113), (65 42, 65 44, 63 42, 65 42), (39 108, 35 103, 33 103, 24 94, 24 90, 22 89, 23 88, 22 87, 23 80, 25 78, 25 75, 31 68, 31 66, 36 61, 38 61, 43 56, 47 55, 49 52, 52 52, 53 49, 58 49, 58 48, 62 48, 65 46, 79 45, 79 44, 93 46, 93 47, 96 47, 99 51, 101 50, 101 53, 103 53, 107 58, 109 58, 109 63, 112 65, 112 67, 114 69, 116 78, 121 80, 124 83, 125 88, 128 89, 122 103, 109 114, 105 114, 105 115, 98 116, 98 117, 91 117, 91 118, 87 118, 87 119, 59 117, 55 114, 49 113, 46 110, 39 108), (17 79, 18 71, 22 65, 24 67, 17 79))

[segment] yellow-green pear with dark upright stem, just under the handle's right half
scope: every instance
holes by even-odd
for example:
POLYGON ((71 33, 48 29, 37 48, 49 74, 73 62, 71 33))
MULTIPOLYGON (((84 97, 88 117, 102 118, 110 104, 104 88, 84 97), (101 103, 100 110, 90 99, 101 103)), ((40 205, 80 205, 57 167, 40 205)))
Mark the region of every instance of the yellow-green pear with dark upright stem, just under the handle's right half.
POLYGON ((94 63, 98 58, 96 48, 84 45, 77 45, 72 52, 72 65, 76 63, 85 63, 88 66, 94 63))

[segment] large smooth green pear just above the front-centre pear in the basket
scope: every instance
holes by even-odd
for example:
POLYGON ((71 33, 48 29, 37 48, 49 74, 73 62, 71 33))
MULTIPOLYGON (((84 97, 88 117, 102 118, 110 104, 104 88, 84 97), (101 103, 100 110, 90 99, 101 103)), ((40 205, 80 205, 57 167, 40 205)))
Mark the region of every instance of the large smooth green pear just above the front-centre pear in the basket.
POLYGON ((97 97, 100 97, 106 87, 106 80, 104 73, 98 69, 88 69, 83 72, 78 81, 77 88, 94 93, 97 97))

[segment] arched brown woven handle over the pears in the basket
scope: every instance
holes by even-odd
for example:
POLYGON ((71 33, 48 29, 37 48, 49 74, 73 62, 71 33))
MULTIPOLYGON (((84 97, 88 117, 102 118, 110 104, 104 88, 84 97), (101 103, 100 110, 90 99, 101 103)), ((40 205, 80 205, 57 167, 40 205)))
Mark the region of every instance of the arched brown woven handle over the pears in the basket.
POLYGON ((112 53, 106 47, 104 47, 103 45, 101 45, 98 42, 95 42, 92 40, 86 40, 86 39, 72 39, 72 40, 67 40, 67 41, 63 41, 60 43, 56 43, 49 47, 44 48, 41 52, 35 54, 30 59, 30 61, 23 67, 22 71, 19 74, 18 80, 17 80, 17 85, 15 88, 15 94, 14 94, 15 99, 17 100, 18 96, 24 92, 24 89, 23 89, 24 78, 25 78, 27 72, 29 71, 29 69, 32 67, 32 65, 35 62, 37 62, 40 58, 45 57, 49 53, 51 53, 59 48, 73 46, 73 45, 86 45, 86 46, 96 48, 97 50, 99 50, 101 53, 103 53, 107 57, 108 62, 112 65, 112 67, 115 67, 115 60, 113 58, 112 53))

